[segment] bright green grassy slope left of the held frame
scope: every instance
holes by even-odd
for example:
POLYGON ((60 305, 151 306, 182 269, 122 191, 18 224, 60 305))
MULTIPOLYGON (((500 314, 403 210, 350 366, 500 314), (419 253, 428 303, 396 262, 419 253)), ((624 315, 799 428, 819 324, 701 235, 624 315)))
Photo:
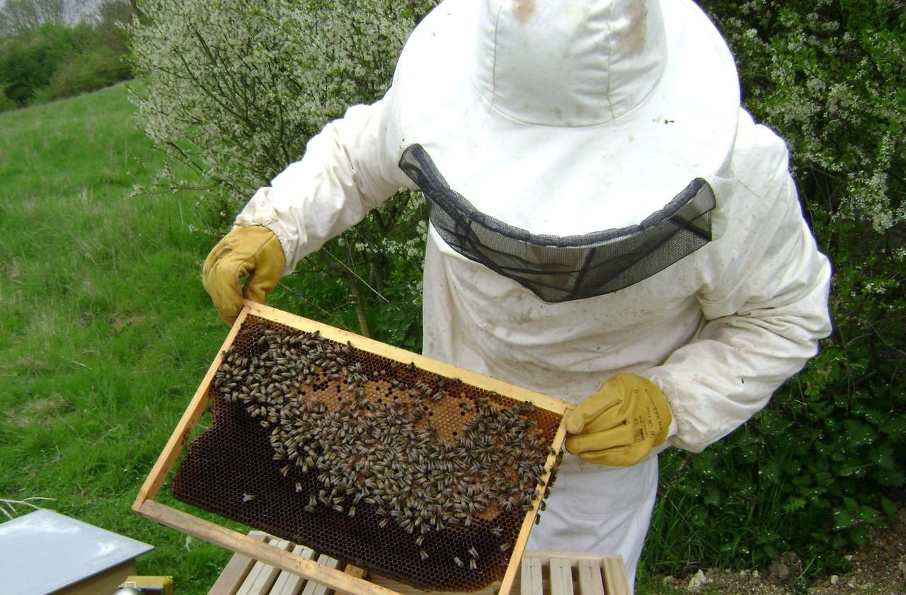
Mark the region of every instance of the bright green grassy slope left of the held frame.
POLYGON ((130 507, 226 337, 213 240, 194 197, 131 196, 161 164, 130 113, 118 85, 0 114, 0 498, 148 542, 140 572, 204 593, 228 552, 130 507))

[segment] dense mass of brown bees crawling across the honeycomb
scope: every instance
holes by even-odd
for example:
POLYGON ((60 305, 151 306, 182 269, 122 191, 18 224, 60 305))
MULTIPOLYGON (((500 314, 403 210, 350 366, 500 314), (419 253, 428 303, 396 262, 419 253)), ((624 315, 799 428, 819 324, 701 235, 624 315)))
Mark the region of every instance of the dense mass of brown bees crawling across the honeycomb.
MULTIPOLYGON (((316 332, 265 328, 251 351, 228 350, 212 389, 270 430, 275 465, 288 481, 316 475, 316 491, 295 482, 308 513, 323 507, 352 517, 369 506, 381 527, 396 523, 411 533, 424 561, 429 533, 524 515, 542 496, 535 485, 550 450, 531 403, 469 396, 458 379, 429 377, 414 364, 363 369, 359 350, 316 332), (446 415, 432 419, 441 403, 446 415)), ((492 531, 501 537, 500 528, 492 531)), ((476 569, 478 559, 469 547, 451 562, 476 569)))

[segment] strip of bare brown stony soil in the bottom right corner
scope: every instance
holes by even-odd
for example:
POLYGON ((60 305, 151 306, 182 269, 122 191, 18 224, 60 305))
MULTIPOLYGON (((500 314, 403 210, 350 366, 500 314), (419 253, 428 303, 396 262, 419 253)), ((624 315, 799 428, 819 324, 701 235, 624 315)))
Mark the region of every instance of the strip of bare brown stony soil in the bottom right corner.
POLYGON ((795 554, 782 556, 766 572, 711 569, 681 577, 665 577, 667 593, 700 595, 843 595, 906 593, 906 509, 892 526, 872 532, 869 542, 847 556, 850 568, 843 574, 811 581, 806 588, 798 582, 802 562, 795 554), (704 581, 701 576, 704 576, 704 581))

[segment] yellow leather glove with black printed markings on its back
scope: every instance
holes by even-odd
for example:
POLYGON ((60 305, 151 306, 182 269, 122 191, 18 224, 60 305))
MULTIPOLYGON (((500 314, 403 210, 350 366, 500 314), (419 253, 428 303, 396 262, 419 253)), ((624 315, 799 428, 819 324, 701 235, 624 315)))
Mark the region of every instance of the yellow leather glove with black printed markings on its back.
POLYGON ((667 439, 670 406, 651 380, 614 374, 566 414, 566 450, 589 463, 635 465, 667 439))

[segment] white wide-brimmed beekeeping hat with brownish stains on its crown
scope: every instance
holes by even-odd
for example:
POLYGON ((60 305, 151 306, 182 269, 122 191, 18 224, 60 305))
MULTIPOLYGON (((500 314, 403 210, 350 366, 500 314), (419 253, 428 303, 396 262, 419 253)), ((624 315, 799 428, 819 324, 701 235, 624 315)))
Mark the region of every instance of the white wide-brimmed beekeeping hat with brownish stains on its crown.
POLYGON ((726 178, 739 110, 727 44, 689 0, 446 0, 393 98, 400 149, 543 235, 637 225, 693 178, 726 178))

